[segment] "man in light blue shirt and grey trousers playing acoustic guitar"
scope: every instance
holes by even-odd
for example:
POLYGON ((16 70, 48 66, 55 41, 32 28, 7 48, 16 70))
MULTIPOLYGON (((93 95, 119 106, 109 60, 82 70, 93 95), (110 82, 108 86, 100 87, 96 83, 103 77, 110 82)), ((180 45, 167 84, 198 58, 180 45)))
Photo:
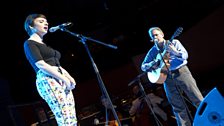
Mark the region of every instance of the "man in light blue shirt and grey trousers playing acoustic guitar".
POLYGON ((192 119, 181 92, 188 96, 195 107, 199 106, 203 96, 187 67, 188 53, 179 40, 165 40, 159 27, 151 27, 148 33, 154 46, 146 54, 141 69, 148 73, 148 78, 153 83, 164 84, 178 126, 191 126, 192 119))

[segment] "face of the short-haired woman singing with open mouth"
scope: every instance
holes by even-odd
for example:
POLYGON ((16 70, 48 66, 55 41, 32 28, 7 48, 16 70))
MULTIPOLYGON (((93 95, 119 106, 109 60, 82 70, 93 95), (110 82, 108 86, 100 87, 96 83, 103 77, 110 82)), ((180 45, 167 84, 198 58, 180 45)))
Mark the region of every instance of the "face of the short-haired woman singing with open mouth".
POLYGON ((48 32, 48 22, 45 18, 36 18, 33 26, 34 33, 44 36, 48 32))

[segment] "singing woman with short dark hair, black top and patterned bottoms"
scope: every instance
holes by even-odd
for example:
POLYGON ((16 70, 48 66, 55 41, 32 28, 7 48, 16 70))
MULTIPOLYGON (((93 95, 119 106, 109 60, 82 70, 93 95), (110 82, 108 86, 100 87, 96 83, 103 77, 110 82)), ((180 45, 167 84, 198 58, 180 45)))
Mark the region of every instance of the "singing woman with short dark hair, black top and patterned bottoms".
POLYGON ((36 72, 38 93, 54 113, 58 126, 76 126, 75 101, 72 94, 76 82, 60 66, 60 52, 48 47, 43 41, 48 32, 46 16, 28 15, 24 28, 29 35, 24 43, 24 52, 36 72))

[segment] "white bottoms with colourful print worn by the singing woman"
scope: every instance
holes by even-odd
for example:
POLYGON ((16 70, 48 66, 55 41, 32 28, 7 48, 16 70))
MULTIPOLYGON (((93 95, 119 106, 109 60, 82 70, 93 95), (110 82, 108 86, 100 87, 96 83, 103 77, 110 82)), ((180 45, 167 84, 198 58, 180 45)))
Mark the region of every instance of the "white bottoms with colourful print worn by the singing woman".
POLYGON ((38 71, 36 86, 54 113, 58 126, 77 126, 75 101, 71 90, 61 81, 38 71))

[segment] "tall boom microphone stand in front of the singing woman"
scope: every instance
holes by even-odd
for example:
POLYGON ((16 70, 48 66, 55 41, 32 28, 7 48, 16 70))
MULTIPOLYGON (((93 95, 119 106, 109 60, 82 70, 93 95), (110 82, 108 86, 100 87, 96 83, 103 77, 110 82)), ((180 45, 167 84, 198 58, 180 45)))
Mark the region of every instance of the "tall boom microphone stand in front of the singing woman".
POLYGON ((111 106, 111 110, 112 110, 112 112, 113 112, 114 118, 117 120, 118 126, 121 126, 121 122, 120 122, 120 120, 119 120, 119 118, 118 118, 118 115, 117 115, 115 109, 114 109, 114 106, 113 106, 113 104, 112 104, 112 101, 111 101, 111 99, 110 99, 110 96, 109 96, 109 94, 108 94, 108 92, 107 92, 107 90, 106 90, 106 88, 105 88, 105 85, 104 85, 103 80, 102 80, 102 78, 101 78, 101 76, 100 76, 99 70, 98 70, 98 68, 97 68, 97 66, 96 66, 96 64, 95 64, 95 62, 94 62, 94 60, 93 60, 93 58, 92 58, 92 56, 91 56, 91 53, 90 53, 89 48, 88 48, 88 45, 86 44, 86 40, 90 40, 90 41, 93 41, 93 42, 97 42, 97 43, 99 43, 99 44, 102 44, 102 45, 104 45, 104 46, 107 46, 107 47, 110 47, 110 48, 113 48, 113 49, 117 49, 117 47, 116 47, 116 46, 113 46, 113 45, 110 45, 110 44, 106 44, 106 43, 100 42, 100 41, 98 41, 98 40, 95 40, 95 39, 92 39, 92 38, 89 38, 89 37, 85 37, 85 36, 83 36, 83 35, 81 35, 81 34, 76 34, 76 33, 74 33, 74 32, 69 31, 68 29, 66 29, 66 28, 64 28, 64 27, 61 28, 60 30, 61 30, 61 31, 68 32, 68 33, 70 33, 71 35, 73 35, 73 36, 79 38, 79 39, 80 39, 79 41, 82 42, 82 44, 84 44, 85 49, 86 49, 86 51, 87 51, 87 53, 88 53, 88 56, 89 56, 89 58, 90 58, 90 60, 91 60, 91 62, 92 62, 94 71, 95 71, 95 73, 96 73, 97 80, 98 80, 98 82, 99 82, 99 86, 100 86, 100 89, 101 89, 101 91, 102 91, 102 94, 103 94, 104 96, 106 96, 107 100, 109 101, 109 104, 110 104, 110 106, 111 106))

